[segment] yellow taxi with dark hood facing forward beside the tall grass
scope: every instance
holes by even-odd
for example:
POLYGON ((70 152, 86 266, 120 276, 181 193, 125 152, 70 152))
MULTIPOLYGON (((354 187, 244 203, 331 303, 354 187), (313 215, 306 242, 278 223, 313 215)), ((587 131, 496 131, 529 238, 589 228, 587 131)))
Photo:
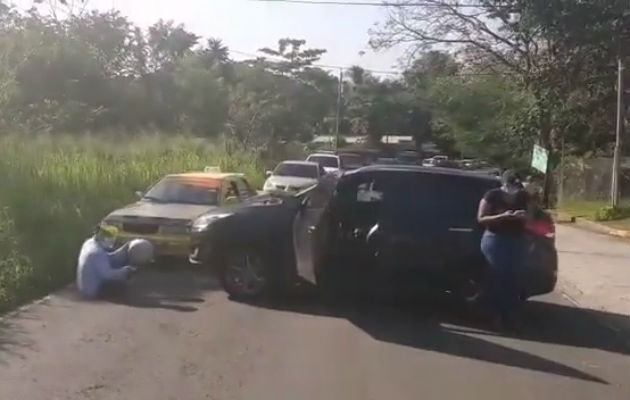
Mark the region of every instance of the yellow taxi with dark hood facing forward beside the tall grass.
POLYGON ((190 228, 197 217, 223 212, 256 193, 242 174, 192 172, 167 175, 138 195, 137 202, 103 219, 118 228, 118 244, 143 238, 153 243, 157 256, 188 257, 190 228))

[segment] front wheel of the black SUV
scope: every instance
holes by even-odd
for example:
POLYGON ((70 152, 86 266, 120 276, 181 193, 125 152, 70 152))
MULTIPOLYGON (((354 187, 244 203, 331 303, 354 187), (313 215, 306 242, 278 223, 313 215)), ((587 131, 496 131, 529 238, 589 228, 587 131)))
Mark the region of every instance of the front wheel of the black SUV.
POLYGON ((223 289, 239 300, 256 300, 269 293, 270 269, 259 252, 251 249, 230 251, 223 257, 220 278, 223 289))

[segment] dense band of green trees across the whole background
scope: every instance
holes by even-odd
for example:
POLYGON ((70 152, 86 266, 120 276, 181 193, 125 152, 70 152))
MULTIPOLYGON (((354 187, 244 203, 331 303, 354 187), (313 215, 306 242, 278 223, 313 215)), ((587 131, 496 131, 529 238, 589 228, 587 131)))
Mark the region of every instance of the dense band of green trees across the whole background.
POLYGON ((338 68, 319 66, 326 50, 302 39, 236 61, 220 38, 174 21, 142 29, 116 11, 56 18, 0 1, 0 131, 156 129, 265 147, 333 133, 338 112, 344 135, 411 135, 503 165, 524 163, 535 142, 607 153, 616 60, 630 61, 623 3, 394 5, 371 44, 410 46, 407 66, 344 66, 339 82, 338 68))

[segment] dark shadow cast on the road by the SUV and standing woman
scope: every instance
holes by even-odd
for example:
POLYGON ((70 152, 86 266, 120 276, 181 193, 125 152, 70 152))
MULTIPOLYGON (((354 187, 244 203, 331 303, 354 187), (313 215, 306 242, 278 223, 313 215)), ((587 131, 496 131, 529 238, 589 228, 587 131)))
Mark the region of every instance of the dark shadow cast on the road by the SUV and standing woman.
MULTIPOLYGON (((418 300, 418 299, 416 299, 418 300)), ((497 336, 629 354, 625 343, 599 325, 585 310, 572 306, 530 301, 524 310, 527 326, 518 334, 492 333, 486 323, 452 300, 428 302, 361 300, 326 306, 314 296, 300 301, 257 304, 265 308, 345 318, 376 340, 524 368, 585 381, 607 381, 560 362, 491 341, 497 336)))

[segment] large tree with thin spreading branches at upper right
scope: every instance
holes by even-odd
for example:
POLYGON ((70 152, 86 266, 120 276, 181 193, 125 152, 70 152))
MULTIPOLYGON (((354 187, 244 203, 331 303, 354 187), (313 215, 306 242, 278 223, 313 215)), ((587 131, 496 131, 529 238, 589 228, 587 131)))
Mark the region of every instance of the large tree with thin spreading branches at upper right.
POLYGON ((513 131, 535 132, 553 160, 560 138, 584 151, 587 143, 601 145, 602 132, 612 132, 602 116, 612 109, 611 67, 630 43, 629 19, 623 0, 428 0, 417 7, 393 6, 384 27, 372 31, 371 43, 376 48, 410 43, 414 54, 449 46, 464 60, 464 72, 505 76, 518 84, 534 102, 517 119, 527 123, 513 131), (587 100, 577 101, 580 97, 587 100), (598 121, 597 127, 586 119, 598 121))

